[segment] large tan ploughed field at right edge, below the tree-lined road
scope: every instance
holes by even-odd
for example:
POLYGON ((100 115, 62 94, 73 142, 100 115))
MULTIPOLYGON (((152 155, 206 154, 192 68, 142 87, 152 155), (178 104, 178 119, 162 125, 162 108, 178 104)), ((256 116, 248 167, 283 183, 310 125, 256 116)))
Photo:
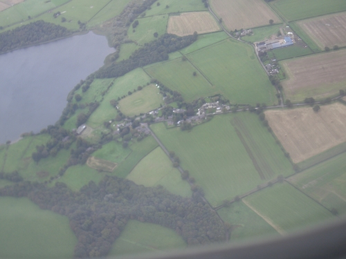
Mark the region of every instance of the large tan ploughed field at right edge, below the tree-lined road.
POLYGON ((346 106, 340 103, 311 107, 270 110, 266 119, 294 163, 326 151, 346 141, 346 106))

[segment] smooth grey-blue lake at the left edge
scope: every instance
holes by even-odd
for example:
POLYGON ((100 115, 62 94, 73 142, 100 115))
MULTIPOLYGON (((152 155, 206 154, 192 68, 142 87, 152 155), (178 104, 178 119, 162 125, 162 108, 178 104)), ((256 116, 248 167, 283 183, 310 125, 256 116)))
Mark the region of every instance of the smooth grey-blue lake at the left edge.
POLYGON ((114 51, 89 32, 0 55, 0 144, 55 124, 73 87, 114 51))

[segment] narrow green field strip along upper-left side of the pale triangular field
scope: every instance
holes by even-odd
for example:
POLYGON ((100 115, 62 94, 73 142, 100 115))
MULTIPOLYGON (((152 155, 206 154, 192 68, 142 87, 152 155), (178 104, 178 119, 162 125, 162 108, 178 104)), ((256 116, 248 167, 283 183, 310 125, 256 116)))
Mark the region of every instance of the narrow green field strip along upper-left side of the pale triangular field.
POLYGON ((126 178, 138 162, 152 152, 157 146, 158 144, 152 136, 145 137, 142 141, 131 144, 131 146, 127 148, 130 149, 131 153, 124 161, 118 164, 116 169, 113 171, 113 175, 120 178, 126 178))

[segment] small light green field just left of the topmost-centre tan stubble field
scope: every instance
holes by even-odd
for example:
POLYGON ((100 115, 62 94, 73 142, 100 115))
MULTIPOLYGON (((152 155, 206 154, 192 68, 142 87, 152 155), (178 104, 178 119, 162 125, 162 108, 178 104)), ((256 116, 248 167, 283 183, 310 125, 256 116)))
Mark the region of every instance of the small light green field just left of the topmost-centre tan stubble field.
POLYGON ((136 44, 144 45, 147 42, 154 41, 154 33, 158 33, 158 37, 166 33, 168 15, 156 15, 153 17, 145 17, 136 19, 138 20, 138 26, 132 28, 129 26, 127 35, 129 39, 136 42, 136 44))

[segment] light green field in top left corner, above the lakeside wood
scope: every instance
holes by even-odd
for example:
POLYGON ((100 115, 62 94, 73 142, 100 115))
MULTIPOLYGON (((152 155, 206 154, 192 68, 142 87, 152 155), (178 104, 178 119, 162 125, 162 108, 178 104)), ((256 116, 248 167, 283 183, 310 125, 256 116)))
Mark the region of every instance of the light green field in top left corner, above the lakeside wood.
MULTIPOLYGON (((28 17, 36 17, 47 10, 51 10, 68 0, 46 1, 46 0, 26 0, 15 6, 0 12, 0 25, 3 27, 10 26, 13 23, 28 20, 28 17)), ((53 14, 52 14, 53 16, 53 14)))

